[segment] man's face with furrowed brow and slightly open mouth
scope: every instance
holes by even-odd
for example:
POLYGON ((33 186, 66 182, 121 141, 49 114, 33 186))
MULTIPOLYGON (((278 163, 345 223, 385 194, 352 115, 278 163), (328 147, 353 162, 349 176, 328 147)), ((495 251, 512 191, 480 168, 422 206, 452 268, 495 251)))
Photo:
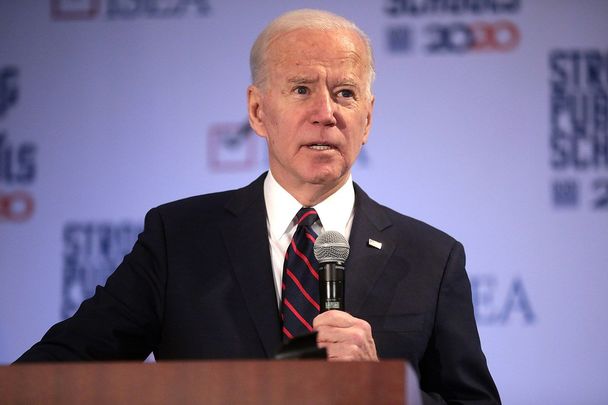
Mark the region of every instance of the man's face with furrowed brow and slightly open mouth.
POLYGON ((348 31, 302 29, 270 44, 266 79, 249 89, 249 118, 287 191, 335 190, 348 178, 371 124, 364 49, 348 31))

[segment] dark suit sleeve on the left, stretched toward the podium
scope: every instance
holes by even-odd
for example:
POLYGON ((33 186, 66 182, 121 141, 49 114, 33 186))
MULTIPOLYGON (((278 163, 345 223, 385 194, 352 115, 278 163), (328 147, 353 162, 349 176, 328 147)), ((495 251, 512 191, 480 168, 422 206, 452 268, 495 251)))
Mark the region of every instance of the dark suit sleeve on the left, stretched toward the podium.
POLYGON ((163 222, 153 209, 105 286, 16 362, 144 360, 160 336, 166 267, 163 222))

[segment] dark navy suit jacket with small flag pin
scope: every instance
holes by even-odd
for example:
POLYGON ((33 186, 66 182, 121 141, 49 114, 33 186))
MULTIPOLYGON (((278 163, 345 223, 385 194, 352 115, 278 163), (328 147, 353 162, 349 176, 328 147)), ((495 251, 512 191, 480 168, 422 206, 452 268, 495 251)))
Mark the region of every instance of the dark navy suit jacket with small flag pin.
MULTIPOLYGON (((281 321, 264 177, 150 210, 106 285, 18 361, 272 357, 281 321)), ((346 309, 371 324, 378 356, 408 360, 426 403, 498 403, 462 245, 357 185, 349 243, 346 309)))

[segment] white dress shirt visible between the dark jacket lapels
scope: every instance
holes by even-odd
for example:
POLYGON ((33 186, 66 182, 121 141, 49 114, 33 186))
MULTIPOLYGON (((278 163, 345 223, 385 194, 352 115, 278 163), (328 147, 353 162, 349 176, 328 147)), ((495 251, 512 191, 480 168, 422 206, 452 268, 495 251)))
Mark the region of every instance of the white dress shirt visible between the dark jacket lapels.
MULTIPOLYGON (((296 232, 295 216, 302 208, 302 204, 277 183, 270 171, 264 180, 264 200, 272 274, 280 308, 283 261, 293 234, 296 232)), ((312 207, 317 211, 321 221, 321 224, 319 221, 313 224, 314 231, 317 235, 322 231, 338 231, 348 240, 353 225, 354 207, 355 189, 352 176, 349 176, 340 189, 312 207)))

